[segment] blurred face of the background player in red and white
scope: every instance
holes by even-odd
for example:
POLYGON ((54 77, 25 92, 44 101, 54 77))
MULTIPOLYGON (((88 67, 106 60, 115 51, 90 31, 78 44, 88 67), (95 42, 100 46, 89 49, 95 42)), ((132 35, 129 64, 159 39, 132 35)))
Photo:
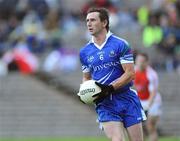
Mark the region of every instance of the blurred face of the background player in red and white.
POLYGON ((146 60, 146 58, 142 55, 137 55, 136 56, 136 66, 140 69, 140 70, 145 70, 146 67, 148 66, 148 61, 146 60))

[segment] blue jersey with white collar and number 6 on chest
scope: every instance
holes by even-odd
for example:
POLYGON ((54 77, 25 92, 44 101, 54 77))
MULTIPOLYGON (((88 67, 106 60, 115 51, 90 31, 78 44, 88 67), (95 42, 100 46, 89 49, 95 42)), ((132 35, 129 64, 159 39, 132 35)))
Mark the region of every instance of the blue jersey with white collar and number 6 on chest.
MULTIPOLYGON (((93 80, 101 84, 111 84, 124 73, 122 64, 133 63, 133 54, 127 41, 108 33, 102 49, 93 41, 80 50, 82 71, 89 72, 93 80)), ((132 86, 128 83, 121 89, 132 86)))

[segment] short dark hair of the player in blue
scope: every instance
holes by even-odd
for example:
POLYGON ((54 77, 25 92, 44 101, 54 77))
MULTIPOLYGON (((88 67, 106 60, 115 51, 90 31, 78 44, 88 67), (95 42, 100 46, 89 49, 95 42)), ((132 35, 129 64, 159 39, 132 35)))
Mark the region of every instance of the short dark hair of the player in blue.
POLYGON ((106 25, 106 30, 109 31, 109 12, 106 8, 90 8, 87 11, 87 14, 92 13, 92 12, 98 12, 99 13, 99 18, 101 21, 107 21, 106 25))

